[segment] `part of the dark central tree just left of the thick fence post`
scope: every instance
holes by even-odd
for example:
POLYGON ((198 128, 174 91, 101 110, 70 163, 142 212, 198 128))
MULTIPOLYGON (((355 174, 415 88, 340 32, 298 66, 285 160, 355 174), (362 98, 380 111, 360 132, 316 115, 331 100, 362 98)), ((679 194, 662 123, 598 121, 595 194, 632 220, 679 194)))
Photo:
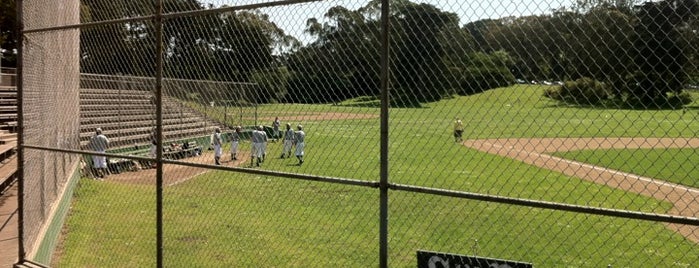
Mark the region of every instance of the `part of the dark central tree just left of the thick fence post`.
POLYGON ((327 103, 378 94, 378 25, 371 9, 330 8, 326 22, 307 21, 316 37, 287 59, 292 73, 288 101, 327 103))

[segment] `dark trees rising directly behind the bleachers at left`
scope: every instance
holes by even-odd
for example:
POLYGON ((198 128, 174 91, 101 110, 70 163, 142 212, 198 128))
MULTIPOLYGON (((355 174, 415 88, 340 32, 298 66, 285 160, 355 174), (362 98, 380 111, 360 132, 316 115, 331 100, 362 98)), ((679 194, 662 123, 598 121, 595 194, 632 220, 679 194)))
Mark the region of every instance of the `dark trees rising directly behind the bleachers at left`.
MULTIPOLYGON (((151 15, 148 1, 83 1, 83 22, 151 15)), ((209 7, 212 7, 211 5, 209 7)), ((166 0, 165 13, 202 10, 197 0, 166 0)), ((86 28, 81 33, 81 68, 101 74, 155 75, 158 57, 151 21, 86 28)), ((252 73, 276 68, 274 53, 298 41, 254 11, 171 17, 163 24, 166 77, 247 82, 252 73)))

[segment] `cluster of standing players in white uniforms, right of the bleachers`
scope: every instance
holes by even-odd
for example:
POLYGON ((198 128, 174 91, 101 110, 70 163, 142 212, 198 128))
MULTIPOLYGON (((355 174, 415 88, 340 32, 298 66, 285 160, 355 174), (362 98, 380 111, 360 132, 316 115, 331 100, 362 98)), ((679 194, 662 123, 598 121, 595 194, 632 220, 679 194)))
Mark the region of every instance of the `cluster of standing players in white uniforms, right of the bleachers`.
MULTIPOLYGON (((296 126, 297 130, 294 131, 291 129, 291 124, 286 124, 286 131, 284 132, 284 135, 281 136, 279 132, 279 118, 276 118, 274 122, 272 123, 272 139, 277 140, 278 138, 283 138, 283 147, 282 147, 282 155, 280 158, 291 158, 291 150, 296 147, 296 150, 294 151, 294 154, 296 155, 296 158, 298 159, 298 165, 303 164, 303 156, 304 156, 304 147, 306 146, 305 139, 306 139, 306 133, 303 131, 303 126, 298 125, 296 126)), ((230 135, 230 140, 231 140, 231 160, 238 160, 238 151, 239 151, 239 145, 240 145, 240 140, 241 140, 241 132, 242 128, 240 126, 236 126, 235 130, 231 133, 230 135)), ((250 165, 257 165, 258 167, 264 162, 265 157, 267 156, 267 132, 264 131, 263 126, 257 126, 255 129, 252 130, 251 135, 250 135, 250 142, 251 142, 251 161, 250 165)), ((211 137, 211 144, 214 147, 214 159, 216 165, 221 165, 221 155, 223 153, 223 137, 221 136, 221 129, 216 128, 214 134, 211 137)))

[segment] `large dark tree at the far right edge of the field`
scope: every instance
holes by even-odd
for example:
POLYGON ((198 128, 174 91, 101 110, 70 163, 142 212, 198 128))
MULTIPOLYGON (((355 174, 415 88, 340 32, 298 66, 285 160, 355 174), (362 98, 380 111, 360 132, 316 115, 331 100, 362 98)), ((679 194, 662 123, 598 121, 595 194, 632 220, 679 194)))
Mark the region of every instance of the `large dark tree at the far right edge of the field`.
MULTIPOLYGON (((568 35, 570 46, 562 51, 569 78, 603 82, 611 92, 605 99, 615 103, 640 108, 679 103, 671 95, 678 96, 696 70, 696 0, 647 2, 633 10, 624 1, 589 3, 583 5, 585 14, 573 15, 584 35, 568 35)), ((564 100, 572 97, 559 93, 564 100)))

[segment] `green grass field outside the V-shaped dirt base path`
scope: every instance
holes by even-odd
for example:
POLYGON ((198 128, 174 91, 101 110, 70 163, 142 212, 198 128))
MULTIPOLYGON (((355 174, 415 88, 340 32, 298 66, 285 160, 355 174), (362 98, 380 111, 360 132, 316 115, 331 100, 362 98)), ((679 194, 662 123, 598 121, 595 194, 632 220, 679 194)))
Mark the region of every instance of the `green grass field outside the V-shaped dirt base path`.
MULTIPOLYGON (((391 109, 391 181, 645 212, 670 208, 453 142, 451 123, 457 116, 466 126, 465 138, 694 137, 692 130, 699 129, 694 110, 682 115, 560 107, 542 99, 541 90, 513 86, 425 108, 391 109)), ((282 123, 301 123, 307 132, 303 166, 270 158, 263 169, 379 179, 379 119, 349 116, 378 115, 378 109, 278 104, 259 110, 261 118, 278 115, 282 123), (320 120, 310 112, 340 116, 320 120), (285 120, 291 116, 293 121, 285 120)), ((277 156, 280 144, 269 146, 277 156)), ((378 198, 372 188, 212 171, 165 189, 164 266, 375 267, 378 198)), ((418 249, 535 267, 699 263, 699 245, 659 223, 395 191, 389 198, 391 267, 414 267, 418 249)), ((56 266, 154 266, 154 203, 153 187, 82 181, 56 266)))

